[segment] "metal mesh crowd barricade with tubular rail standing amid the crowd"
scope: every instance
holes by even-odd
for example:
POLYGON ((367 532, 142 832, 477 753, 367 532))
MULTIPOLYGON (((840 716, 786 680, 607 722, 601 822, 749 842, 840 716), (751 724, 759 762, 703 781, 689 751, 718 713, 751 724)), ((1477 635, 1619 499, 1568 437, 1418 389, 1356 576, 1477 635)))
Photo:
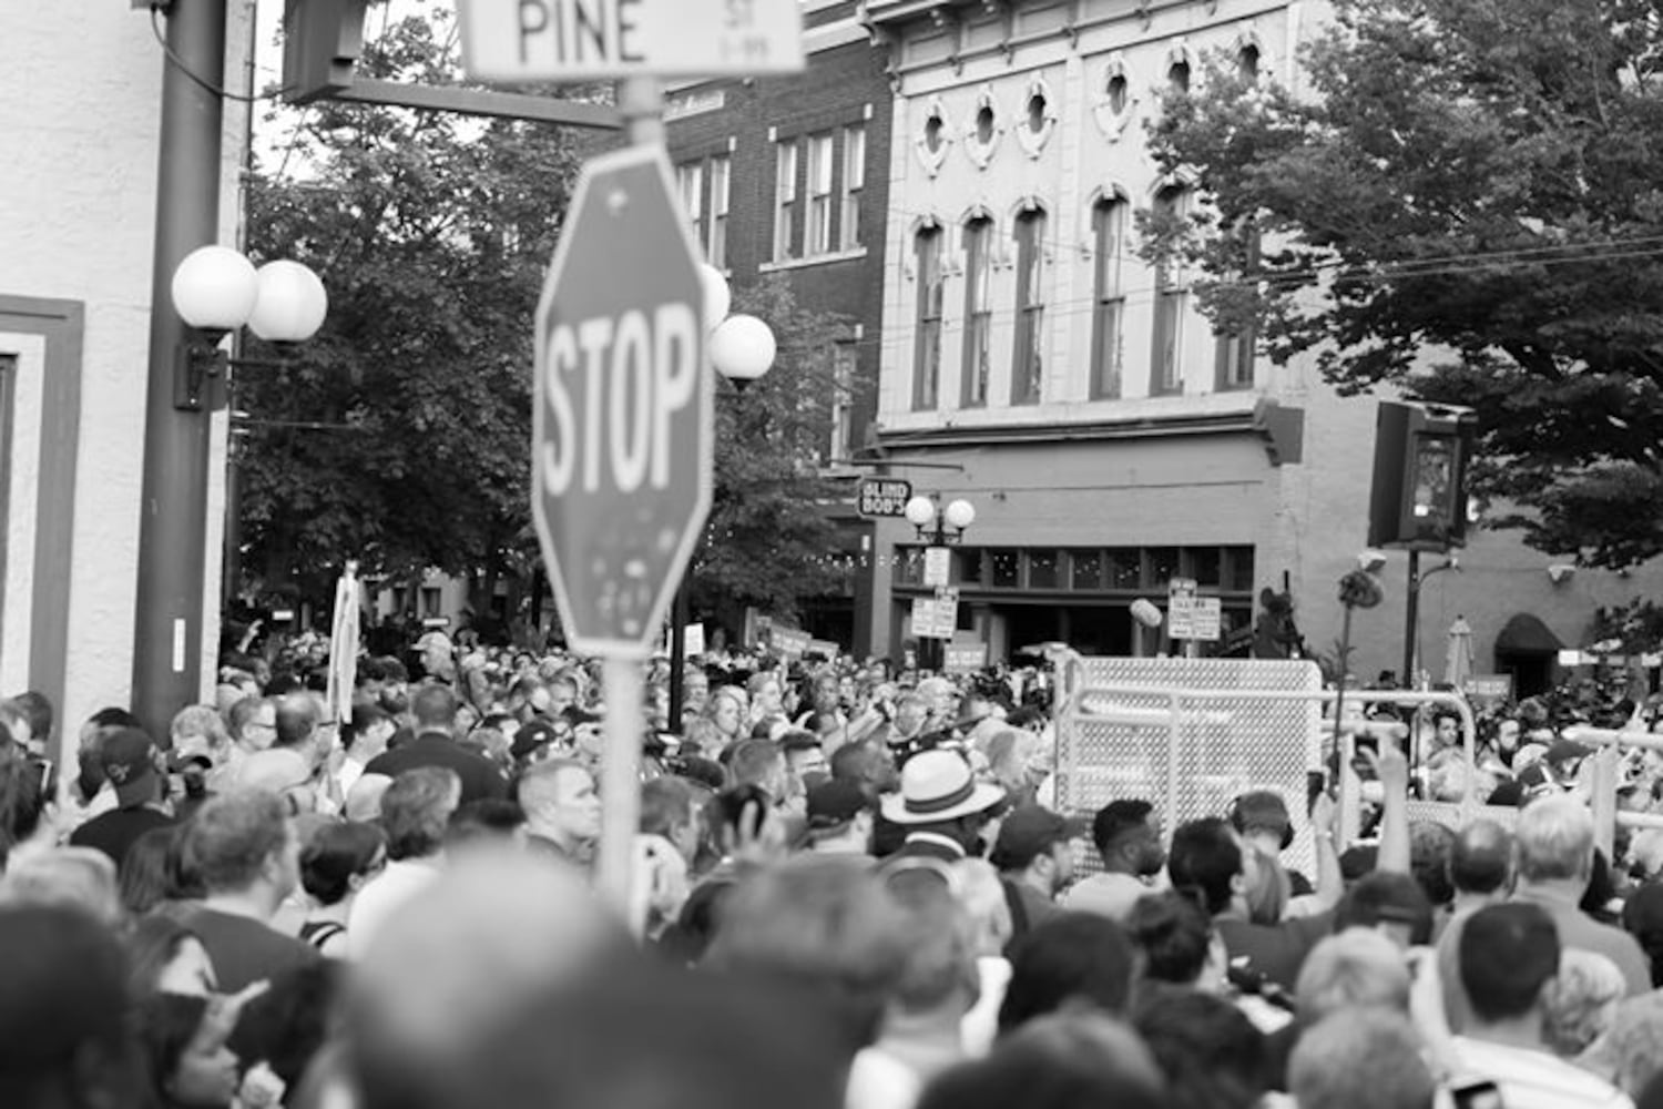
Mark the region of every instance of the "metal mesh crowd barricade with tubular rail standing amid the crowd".
MULTIPOLYGON (((1339 697, 1322 688, 1315 663, 1074 655, 1061 673, 1058 808, 1094 811, 1111 800, 1142 798, 1171 831, 1187 820, 1222 815, 1241 793, 1274 790, 1294 816, 1289 861, 1314 863, 1309 821, 1300 820, 1305 773, 1327 762, 1322 710, 1339 697)), ((1458 825, 1480 808, 1470 788, 1477 723, 1465 698, 1430 690, 1345 690, 1345 700, 1452 708, 1465 737, 1467 796, 1460 803, 1415 801, 1410 813, 1458 825)), ((1349 735, 1342 745, 1345 766, 1349 735)), ((1354 835, 1357 781, 1342 773, 1340 783, 1342 826, 1354 835)))

